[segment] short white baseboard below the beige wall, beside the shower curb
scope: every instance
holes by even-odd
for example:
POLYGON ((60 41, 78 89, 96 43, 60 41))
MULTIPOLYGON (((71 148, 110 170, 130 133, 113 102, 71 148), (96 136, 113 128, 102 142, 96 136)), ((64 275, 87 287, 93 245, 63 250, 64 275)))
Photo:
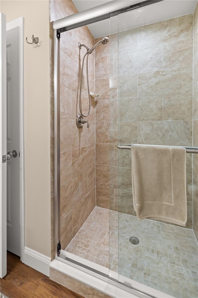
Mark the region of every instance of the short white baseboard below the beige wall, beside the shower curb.
POLYGON ((47 275, 49 277, 49 265, 51 259, 46 255, 42 255, 33 249, 25 247, 24 263, 33 269, 47 275))

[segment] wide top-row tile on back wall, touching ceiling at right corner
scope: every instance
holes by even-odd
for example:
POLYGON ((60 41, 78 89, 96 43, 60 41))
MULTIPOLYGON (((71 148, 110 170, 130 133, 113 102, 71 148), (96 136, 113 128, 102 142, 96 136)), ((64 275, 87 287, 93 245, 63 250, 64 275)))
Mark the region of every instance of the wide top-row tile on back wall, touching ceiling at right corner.
POLYGON ((138 48, 172 43, 183 39, 192 38, 193 14, 164 20, 138 28, 138 48))

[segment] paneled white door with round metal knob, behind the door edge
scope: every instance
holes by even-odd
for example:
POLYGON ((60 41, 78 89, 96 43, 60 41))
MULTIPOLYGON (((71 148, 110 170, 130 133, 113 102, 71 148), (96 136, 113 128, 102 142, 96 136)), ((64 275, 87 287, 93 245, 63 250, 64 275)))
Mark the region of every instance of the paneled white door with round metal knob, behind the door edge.
POLYGON ((20 256, 19 28, 6 32, 7 68, 7 250, 20 256))

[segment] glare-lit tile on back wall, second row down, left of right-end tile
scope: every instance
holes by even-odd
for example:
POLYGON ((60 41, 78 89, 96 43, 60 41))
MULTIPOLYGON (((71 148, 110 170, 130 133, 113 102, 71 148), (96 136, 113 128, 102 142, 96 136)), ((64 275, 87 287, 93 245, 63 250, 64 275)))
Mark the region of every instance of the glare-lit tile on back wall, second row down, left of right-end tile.
POLYGON ((162 45, 121 52, 118 55, 118 75, 160 70, 162 57, 162 45))

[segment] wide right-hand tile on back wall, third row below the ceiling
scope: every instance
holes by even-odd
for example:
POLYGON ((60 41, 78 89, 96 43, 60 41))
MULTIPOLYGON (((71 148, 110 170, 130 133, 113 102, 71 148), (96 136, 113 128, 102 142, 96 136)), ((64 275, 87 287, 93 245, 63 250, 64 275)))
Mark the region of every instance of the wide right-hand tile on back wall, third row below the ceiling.
POLYGON ((138 75, 138 95, 192 93, 192 66, 138 75))

